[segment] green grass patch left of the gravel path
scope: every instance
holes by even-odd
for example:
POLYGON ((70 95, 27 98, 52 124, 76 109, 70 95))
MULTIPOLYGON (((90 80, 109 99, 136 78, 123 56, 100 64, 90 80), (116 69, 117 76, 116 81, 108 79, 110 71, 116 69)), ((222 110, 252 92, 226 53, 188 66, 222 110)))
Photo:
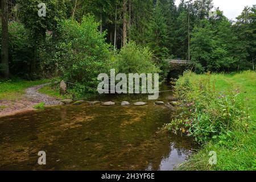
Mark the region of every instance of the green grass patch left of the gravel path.
POLYGON ((0 80, 0 100, 19 100, 23 98, 25 90, 31 86, 52 82, 51 79, 27 81, 27 80, 0 80))

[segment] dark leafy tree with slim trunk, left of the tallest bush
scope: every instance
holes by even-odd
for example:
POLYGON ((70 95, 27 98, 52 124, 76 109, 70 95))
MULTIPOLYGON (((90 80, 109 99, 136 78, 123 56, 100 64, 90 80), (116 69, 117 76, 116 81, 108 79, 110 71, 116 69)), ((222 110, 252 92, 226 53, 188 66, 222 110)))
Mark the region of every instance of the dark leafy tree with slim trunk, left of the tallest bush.
POLYGON ((46 16, 38 16, 38 1, 37 0, 17 0, 19 7, 19 19, 24 26, 31 32, 31 47, 33 49, 34 59, 30 62, 30 73, 39 71, 38 65, 38 48, 44 43, 46 39, 46 31, 56 33, 57 24, 67 18, 67 4, 68 0, 45 0, 46 16))

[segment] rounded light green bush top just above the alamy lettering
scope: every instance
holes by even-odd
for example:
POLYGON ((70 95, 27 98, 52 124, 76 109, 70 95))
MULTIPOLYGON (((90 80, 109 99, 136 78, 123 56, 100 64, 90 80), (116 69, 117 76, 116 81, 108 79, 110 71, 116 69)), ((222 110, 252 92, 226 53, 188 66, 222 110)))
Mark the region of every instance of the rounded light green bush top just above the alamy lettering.
POLYGON ((115 55, 115 67, 119 73, 159 73, 160 69, 152 61, 149 48, 129 42, 115 55))

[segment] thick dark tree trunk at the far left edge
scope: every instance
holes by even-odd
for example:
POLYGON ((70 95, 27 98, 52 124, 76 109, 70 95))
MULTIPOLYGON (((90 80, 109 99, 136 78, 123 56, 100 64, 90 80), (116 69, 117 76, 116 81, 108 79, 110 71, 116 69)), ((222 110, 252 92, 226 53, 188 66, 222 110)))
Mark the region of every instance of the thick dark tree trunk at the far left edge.
POLYGON ((2 10, 2 67, 3 76, 9 78, 9 52, 8 52, 8 3, 1 0, 2 10))

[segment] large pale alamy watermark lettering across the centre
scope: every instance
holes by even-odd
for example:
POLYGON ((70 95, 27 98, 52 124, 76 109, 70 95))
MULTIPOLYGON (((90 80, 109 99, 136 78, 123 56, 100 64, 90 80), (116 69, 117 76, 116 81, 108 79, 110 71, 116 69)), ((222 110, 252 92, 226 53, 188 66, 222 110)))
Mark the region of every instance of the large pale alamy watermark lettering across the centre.
POLYGON ((128 78, 125 73, 119 73, 115 76, 115 69, 110 69, 110 78, 108 74, 98 75, 98 93, 109 94, 151 94, 148 100, 157 100, 159 97, 159 74, 158 73, 129 73, 128 78), (154 79, 153 79, 154 75, 154 79), (115 81, 119 81, 115 84, 115 81), (110 87, 110 88, 109 88, 110 87))

